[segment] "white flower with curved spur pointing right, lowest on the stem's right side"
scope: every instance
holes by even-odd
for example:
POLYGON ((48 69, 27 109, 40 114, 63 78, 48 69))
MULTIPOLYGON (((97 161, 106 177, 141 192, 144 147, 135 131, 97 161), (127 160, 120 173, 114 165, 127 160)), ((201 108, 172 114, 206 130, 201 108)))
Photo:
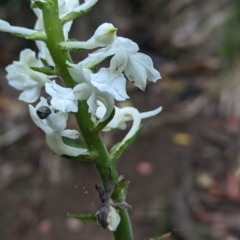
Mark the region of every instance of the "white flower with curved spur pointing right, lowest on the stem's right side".
MULTIPOLYGON (((101 103, 98 102, 98 109, 96 115, 99 119, 101 119, 105 111, 106 108, 101 103)), ((133 121, 132 127, 128 134, 123 139, 123 141, 126 141, 127 139, 133 137, 134 134, 138 131, 141 124, 141 119, 155 116, 161 111, 162 107, 159 107, 153 111, 139 113, 139 111, 134 107, 118 108, 115 106, 115 115, 113 119, 103 129, 103 131, 109 131, 113 128, 119 128, 121 130, 124 130, 127 127, 126 122, 132 120, 133 121)))

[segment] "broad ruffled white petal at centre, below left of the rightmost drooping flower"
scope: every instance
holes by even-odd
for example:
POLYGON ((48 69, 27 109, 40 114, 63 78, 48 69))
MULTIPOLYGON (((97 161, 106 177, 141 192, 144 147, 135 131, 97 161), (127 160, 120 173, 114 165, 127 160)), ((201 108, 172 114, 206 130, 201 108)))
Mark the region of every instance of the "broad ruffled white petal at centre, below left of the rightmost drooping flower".
POLYGON ((91 83, 99 91, 108 92, 118 101, 129 98, 126 93, 126 79, 122 73, 114 74, 107 68, 101 68, 99 72, 91 74, 91 83))

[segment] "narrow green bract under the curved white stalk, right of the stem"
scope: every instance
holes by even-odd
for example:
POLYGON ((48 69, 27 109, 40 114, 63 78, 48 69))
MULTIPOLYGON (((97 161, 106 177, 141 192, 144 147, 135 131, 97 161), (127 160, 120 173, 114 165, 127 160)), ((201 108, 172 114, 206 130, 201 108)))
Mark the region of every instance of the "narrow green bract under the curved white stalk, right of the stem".
POLYGON ((135 134, 127 139, 126 141, 122 141, 120 143, 115 144, 110 150, 110 159, 116 162, 120 156, 127 150, 127 148, 136 140, 139 133, 141 132, 142 127, 140 127, 135 134))

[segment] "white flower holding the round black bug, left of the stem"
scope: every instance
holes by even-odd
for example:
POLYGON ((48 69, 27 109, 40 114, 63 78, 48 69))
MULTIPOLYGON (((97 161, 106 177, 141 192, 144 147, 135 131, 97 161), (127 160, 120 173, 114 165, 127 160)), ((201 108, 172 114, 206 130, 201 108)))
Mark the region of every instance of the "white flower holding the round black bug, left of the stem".
POLYGON ((41 97, 35 108, 29 105, 29 111, 33 122, 45 132, 49 148, 58 155, 78 156, 86 153, 87 149, 71 147, 62 140, 62 136, 72 139, 76 139, 79 136, 78 131, 65 129, 68 114, 63 112, 55 113, 51 109, 52 113, 46 119, 40 119, 37 115, 37 109, 41 106, 48 106, 47 100, 43 97, 41 97))

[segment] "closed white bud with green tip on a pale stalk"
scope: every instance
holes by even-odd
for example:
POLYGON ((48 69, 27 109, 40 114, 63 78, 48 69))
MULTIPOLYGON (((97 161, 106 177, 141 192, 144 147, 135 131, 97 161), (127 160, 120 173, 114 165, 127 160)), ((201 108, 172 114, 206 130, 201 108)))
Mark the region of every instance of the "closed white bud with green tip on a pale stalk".
POLYGON ((94 35, 86 42, 67 41, 60 43, 59 45, 66 50, 106 47, 113 43, 116 38, 116 31, 117 28, 115 28, 111 23, 103 23, 97 28, 94 35))

